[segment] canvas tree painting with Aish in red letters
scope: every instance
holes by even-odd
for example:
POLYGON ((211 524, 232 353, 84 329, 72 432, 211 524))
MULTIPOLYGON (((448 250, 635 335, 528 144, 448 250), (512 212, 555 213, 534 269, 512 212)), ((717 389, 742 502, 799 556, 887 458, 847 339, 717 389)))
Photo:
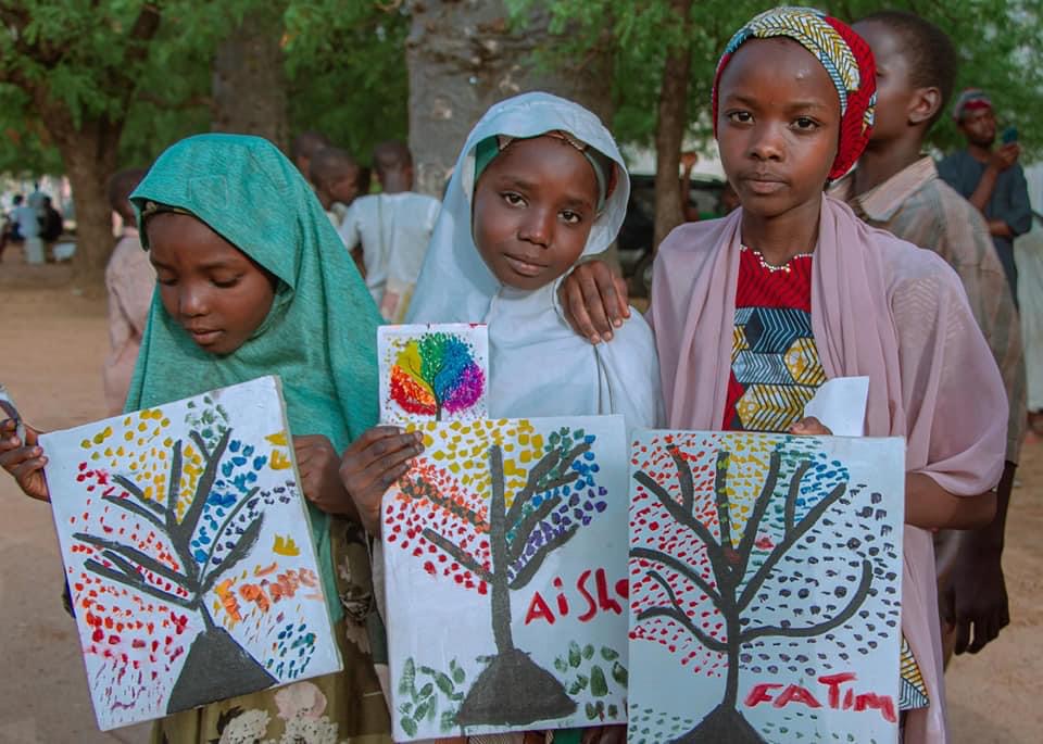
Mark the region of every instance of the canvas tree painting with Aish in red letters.
POLYGON ((395 741, 621 722, 621 417, 417 428, 384 501, 395 741))

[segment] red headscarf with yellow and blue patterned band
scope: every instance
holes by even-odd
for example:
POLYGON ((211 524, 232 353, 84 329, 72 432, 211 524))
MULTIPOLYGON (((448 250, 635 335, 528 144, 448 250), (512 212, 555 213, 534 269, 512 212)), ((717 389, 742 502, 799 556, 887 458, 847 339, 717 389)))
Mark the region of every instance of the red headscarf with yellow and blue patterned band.
POLYGON ((786 37, 815 55, 840 96, 840 143, 829 172, 840 178, 862 156, 872 131, 877 101, 877 65, 869 45, 847 24, 814 8, 774 8, 740 28, 725 48, 714 77, 714 135, 717 135, 717 88, 720 75, 745 41, 786 37))

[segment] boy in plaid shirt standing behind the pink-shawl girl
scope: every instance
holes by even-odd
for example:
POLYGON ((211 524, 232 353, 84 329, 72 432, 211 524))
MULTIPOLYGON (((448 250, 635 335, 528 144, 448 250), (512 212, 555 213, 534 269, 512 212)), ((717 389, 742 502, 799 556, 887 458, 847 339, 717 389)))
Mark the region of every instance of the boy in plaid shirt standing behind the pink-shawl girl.
MULTIPOLYGON (((977 653, 1009 622, 1001 556, 1026 424, 1018 312, 984 218, 939 178, 934 161, 923 154, 923 138, 953 92, 958 56, 952 41, 902 11, 874 13, 854 29, 877 62, 876 124, 858 167, 830 193, 869 225, 934 251, 955 269, 1007 391, 1006 466, 996 517, 982 530, 945 533, 958 551, 955 565, 939 567, 943 619, 956 629, 946 652, 955 646, 956 653, 977 653)), ((942 550, 940 557, 951 553, 942 550)))

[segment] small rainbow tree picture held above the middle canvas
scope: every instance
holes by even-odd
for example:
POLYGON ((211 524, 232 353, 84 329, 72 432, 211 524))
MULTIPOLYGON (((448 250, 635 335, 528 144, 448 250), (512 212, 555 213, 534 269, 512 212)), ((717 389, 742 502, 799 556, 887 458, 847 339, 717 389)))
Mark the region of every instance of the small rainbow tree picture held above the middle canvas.
POLYGON ((380 420, 474 420, 488 415, 488 329, 473 324, 382 326, 380 420))

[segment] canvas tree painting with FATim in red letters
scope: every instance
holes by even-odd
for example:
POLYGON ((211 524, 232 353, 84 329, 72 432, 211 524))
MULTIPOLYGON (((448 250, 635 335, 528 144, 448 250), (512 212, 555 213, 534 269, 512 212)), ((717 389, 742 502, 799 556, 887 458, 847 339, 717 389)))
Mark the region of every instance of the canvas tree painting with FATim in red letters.
POLYGON ((642 431, 631 742, 896 741, 904 443, 642 431))

